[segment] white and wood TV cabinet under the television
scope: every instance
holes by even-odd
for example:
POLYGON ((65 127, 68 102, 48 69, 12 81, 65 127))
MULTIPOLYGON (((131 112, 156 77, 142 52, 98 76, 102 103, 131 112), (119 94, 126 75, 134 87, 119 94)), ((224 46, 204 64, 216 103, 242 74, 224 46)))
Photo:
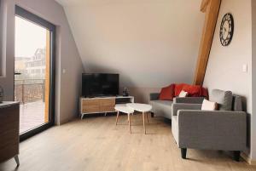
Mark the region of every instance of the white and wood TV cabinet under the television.
POLYGON ((115 112, 114 106, 117 104, 134 103, 133 96, 116 96, 116 97, 96 97, 96 98, 80 98, 81 119, 84 115, 115 112))

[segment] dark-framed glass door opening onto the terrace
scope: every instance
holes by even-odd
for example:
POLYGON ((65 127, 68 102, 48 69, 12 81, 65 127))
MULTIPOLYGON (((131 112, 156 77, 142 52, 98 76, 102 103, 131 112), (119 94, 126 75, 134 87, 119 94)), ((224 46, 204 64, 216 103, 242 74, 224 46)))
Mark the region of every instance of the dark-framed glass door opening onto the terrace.
POLYGON ((54 123, 55 26, 16 6, 15 100, 20 101, 20 139, 54 123))

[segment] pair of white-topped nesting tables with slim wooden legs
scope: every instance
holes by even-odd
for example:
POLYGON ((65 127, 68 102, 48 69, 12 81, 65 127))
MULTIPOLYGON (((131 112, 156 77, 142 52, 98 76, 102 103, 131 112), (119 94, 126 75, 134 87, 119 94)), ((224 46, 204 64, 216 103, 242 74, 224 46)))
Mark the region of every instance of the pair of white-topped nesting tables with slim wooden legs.
POLYGON ((117 111, 116 124, 118 123, 119 111, 124 112, 128 115, 130 133, 131 133, 131 114, 133 114, 134 111, 142 112, 144 134, 146 134, 145 117, 147 117, 147 122, 148 122, 148 112, 151 111, 152 105, 140 104, 140 103, 128 103, 126 105, 115 105, 114 109, 117 111))

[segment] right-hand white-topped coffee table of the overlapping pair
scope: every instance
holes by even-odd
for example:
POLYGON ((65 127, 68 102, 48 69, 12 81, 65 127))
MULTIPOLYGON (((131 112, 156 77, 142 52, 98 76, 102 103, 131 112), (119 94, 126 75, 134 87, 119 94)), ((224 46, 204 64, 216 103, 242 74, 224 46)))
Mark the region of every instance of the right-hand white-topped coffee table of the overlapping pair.
POLYGON ((128 103, 126 105, 134 111, 143 112, 143 128, 144 128, 144 134, 146 134, 145 114, 147 116, 147 121, 148 121, 148 112, 151 111, 152 105, 141 104, 141 103, 128 103))

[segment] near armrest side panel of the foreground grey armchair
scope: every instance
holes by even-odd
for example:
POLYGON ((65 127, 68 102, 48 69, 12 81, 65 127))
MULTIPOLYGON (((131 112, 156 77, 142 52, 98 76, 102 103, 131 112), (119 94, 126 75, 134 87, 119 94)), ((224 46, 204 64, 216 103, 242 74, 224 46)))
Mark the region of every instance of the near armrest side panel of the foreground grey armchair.
POLYGON ((243 111, 177 111, 179 146, 243 151, 247 141, 247 113, 243 111))

